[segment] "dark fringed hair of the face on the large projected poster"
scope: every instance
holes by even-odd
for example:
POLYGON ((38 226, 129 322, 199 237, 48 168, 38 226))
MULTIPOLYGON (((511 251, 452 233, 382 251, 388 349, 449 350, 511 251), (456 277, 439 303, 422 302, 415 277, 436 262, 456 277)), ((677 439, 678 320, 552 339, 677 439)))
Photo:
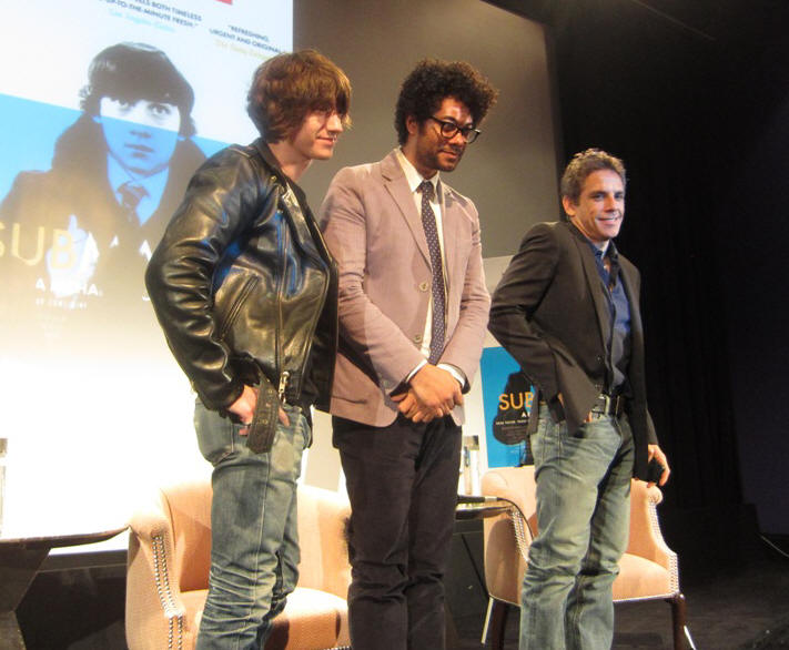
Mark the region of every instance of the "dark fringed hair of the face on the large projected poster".
POLYGON ((141 99, 178 106, 179 133, 194 135, 194 91, 168 55, 145 43, 118 43, 99 52, 88 70, 88 85, 80 91, 82 110, 99 114, 101 98, 141 99))

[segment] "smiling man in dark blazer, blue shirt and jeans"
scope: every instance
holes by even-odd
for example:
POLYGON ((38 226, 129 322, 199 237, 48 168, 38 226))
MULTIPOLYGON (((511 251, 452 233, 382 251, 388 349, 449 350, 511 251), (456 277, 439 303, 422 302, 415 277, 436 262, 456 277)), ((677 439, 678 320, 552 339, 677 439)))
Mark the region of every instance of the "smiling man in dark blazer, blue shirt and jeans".
POLYGON ((630 478, 669 475, 647 409, 640 278, 613 242, 625 182, 620 160, 576 154, 562 179, 568 221, 534 226, 493 296, 488 327, 539 393, 520 650, 610 648, 630 478))

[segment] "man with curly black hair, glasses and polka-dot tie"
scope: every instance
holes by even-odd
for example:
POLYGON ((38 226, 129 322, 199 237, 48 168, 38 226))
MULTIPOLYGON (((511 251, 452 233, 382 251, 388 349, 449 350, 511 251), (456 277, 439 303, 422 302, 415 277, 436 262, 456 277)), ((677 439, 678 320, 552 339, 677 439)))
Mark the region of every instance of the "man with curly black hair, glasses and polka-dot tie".
POLYGON ((340 267, 331 412, 353 509, 354 650, 444 648, 463 393, 489 296, 477 211, 439 172, 496 94, 467 63, 419 62, 397 101, 399 148, 341 170, 321 209, 340 267))

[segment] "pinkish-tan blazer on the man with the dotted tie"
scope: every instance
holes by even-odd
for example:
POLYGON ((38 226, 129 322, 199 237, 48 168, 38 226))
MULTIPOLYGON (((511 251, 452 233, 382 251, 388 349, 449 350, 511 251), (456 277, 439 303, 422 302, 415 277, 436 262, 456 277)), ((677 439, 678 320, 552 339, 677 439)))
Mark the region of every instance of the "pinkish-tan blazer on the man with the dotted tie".
MULTIPOLYGON (((482 354, 489 296, 485 288, 479 217, 474 203, 443 180, 446 344, 438 363, 459 368, 468 389, 482 354)), ((341 170, 318 221, 340 271, 340 352, 332 413, 386 426, 393 392, 424 359, 419 352, 431 299, 427 240, 395 152, 341 170)), ((463 409, 453 412, 457 424, 463 409)))

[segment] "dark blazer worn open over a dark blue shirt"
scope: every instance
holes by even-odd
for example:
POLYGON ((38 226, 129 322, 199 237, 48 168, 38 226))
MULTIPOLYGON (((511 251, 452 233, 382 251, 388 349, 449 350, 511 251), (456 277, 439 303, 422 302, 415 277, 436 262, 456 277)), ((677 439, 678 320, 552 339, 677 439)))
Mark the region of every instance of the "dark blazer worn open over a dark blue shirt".
MULTIPOLYGON (((630 306, 626 409, 636 444, 635 474, 644 477, 647 444, 657 438, 647 409, 640 275, 621 254, 619 264, 630 306)), ((575 226, 540 223, 526 233, 494 292, 488 327, 543 399, 550 403, 562 394, 568 428, 577 430, 605 386, 610 313, 595 255, 575 226)))

